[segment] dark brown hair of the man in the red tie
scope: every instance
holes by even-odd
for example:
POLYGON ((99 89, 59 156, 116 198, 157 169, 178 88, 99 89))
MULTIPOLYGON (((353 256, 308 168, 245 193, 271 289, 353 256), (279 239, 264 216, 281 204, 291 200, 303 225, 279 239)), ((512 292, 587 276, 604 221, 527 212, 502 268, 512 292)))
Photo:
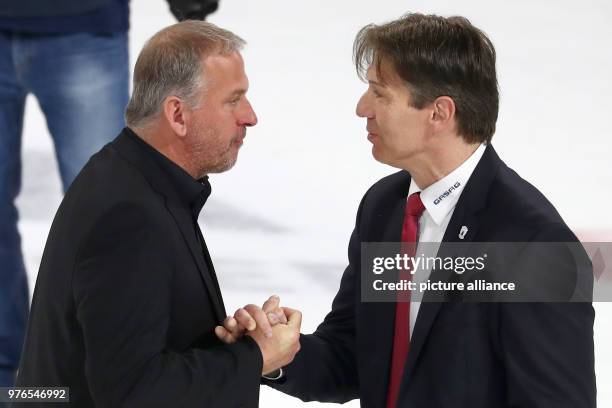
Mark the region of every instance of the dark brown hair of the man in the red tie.
POLYGON ((491 141, 499 109, 495 48, 466 18, 415 13, 367 25, 355 38, 353 56, 362 80, 374 64, 384 81, 381 63, 389 63, 407 83, 417 109, 439 96, 451 97, 464 140, 491 141))

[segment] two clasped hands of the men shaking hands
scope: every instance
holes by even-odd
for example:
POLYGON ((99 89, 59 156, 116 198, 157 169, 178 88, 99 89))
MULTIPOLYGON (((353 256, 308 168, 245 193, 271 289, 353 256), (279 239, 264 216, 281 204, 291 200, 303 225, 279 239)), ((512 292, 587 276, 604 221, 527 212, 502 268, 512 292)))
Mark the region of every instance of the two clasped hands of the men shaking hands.
POLYGON ((215 334, 226 344, 249 336, 259 346, 263 357, 262 374, 272 373, 291 363, 300 351, 302 313, 280 307, 280 298, 271 296, 260 308, 249 304, 228 316, 215 334))

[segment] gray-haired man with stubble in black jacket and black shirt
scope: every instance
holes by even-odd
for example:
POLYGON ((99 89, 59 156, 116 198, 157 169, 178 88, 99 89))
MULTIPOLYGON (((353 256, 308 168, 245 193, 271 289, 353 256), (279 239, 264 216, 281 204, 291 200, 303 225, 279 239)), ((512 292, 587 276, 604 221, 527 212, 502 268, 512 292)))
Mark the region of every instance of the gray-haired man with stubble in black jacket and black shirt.
POLYGON ((85 166, 51 227, 19 386, 69 387, 78 407, 256 407, 260 376, 293 359, 298 311, 271 328, 247 306, 257 330, 231 345, 214 333, 227 314, 197 217, 207 175, 232 167, 257 123, 243 44, 187 21, 145 45, 128 127, 85 166))

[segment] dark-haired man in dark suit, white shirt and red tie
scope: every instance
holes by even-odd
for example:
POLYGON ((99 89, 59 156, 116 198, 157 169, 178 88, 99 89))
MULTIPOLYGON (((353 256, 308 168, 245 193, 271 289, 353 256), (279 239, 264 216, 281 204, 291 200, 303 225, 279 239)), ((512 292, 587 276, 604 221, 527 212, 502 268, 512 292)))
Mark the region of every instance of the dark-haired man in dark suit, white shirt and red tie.
MULTIPOLYGON (((368 82, 357 115, 372 154, 401 171, 363 197, 331 312, 268 384, 304 401, 360 398, 368 408, 594 407, 588 301, 364 301, 372 271, 362 269, 363 243, 442 251, 577 239, 490 144, 499 97, 482 31, 462 17, 409 14, 363 28, 354 51, 368 82)), ((560 268, 576 275, 571 262, 560 268)))

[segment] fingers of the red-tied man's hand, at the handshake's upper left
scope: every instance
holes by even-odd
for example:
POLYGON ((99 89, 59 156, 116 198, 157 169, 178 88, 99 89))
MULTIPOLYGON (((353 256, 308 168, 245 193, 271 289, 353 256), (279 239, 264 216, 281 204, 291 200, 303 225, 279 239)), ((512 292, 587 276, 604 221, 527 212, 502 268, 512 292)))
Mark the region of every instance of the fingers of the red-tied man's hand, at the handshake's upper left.
POLYGON ((263 304, 260 309, 256 305, 246 305, 228 316, 223 326, 215 327, 215 334, 224 343, 231 344, 242 337, 245 332, 259 330, 264 336, 272 336, 272 326, 287 323, 287 317, 279 307, 280 298, 276 295, 263 304))

